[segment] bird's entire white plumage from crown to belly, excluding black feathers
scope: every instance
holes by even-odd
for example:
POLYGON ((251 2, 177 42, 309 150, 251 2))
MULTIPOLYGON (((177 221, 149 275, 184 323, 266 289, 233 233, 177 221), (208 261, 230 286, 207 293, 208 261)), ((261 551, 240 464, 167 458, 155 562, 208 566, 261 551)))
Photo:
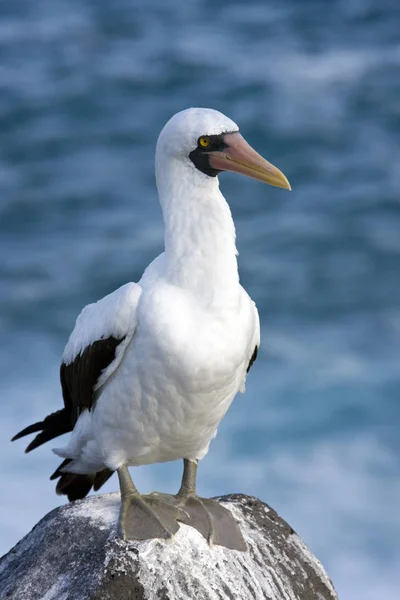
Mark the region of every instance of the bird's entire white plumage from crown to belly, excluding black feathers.
POLYGON ((65 448, 69 472, 199 459, 259 346, 254 302, 239 283, 235 228, 217 177, 189 154, 202 135, 237 131, 207 109, 175 115, 160 134, 156 180, 165 252, 141 280, 83 309, 63 355, 72 363, 95 340, 124 338, 95 385, 65 448))

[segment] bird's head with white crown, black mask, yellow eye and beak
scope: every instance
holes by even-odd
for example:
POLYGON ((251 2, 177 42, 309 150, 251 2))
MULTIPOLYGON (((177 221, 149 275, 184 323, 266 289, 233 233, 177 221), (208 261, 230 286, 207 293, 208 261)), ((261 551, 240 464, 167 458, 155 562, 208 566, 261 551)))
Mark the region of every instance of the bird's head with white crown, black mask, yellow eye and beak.
POLYGON ((285 175, 258 154, 225 115, 210 108, 189 108, 174 115, 157 142, 157 156, 169 156, 207 177, 234 171, 290 190, 285 175))

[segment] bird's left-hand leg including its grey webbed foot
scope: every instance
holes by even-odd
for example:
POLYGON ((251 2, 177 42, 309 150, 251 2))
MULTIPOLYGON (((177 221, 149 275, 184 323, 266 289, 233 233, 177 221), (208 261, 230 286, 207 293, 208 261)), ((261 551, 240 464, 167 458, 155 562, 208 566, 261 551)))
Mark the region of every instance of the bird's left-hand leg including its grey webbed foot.
POLYGON ((187 513, 179 506, 156 495, 139 494, 125 465, 118 469, 118 478, 121 489, 119 530, 124 539, 170 538, 179 529, 178 521, 188 521, 187 513))

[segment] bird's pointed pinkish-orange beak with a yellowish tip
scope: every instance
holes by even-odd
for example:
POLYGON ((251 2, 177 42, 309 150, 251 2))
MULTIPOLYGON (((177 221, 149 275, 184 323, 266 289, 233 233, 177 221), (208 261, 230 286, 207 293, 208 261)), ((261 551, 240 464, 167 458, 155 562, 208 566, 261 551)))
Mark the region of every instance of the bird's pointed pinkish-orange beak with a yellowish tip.
POLYGON ((240 133, 227 133, 224 136, 223 150, 209 152, 209 164, 219 171, 233 171, 253 177, 269 185, 291 190, 285 175, 265 160, 246 142, 240 133))

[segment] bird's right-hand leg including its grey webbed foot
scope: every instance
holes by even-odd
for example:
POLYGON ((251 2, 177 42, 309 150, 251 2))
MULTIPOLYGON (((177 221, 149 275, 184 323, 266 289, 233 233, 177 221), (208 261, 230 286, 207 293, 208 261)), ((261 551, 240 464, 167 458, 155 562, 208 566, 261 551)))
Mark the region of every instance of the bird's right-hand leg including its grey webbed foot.
POLYGON ((184 459, 182 483, 175 496, 177 506, 189 514, 187 523, 209 543, 234 550, 247 550, 246 542, 232 513, 216 500, 200 498, 196 493, 197 460, 184 459))

